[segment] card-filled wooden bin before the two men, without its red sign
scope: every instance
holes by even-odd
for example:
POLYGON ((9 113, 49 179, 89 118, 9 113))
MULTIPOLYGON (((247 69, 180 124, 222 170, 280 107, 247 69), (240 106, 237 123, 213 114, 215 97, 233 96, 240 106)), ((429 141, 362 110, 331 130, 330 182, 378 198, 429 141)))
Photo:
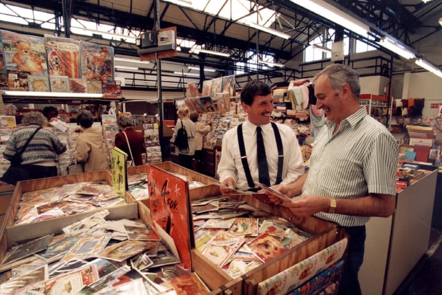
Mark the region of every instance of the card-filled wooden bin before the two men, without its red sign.
MULTIPOLYGON (((242 215, 234 219, 230 227, 227 222, 229 218, 222 219, 221 222, 213 222, 209 218, 200 223, 200 213, 195 214, 195 208, 200 207, 201 203, 204 204, 202 206, 206 206, 207 199, 192 201, 195 233, 195 249, 192 250, 193 269, 204 281, 226 280, 224 287, 232 294, 267 294, 272 288, 280 290, 281 292, 276 292, 278 294, 287 294, 296 285, 314 278, 321 269, 331 267, 343 259, 347 247, 345 231, 333 222, 313 216, 298 218, 286 207, 269 204, 262 195, 244 194, 228 202, 242 203, 244 208, 256 210, 254 216, 262 217, 251 219, 242 215), (250 220, 256 220, 255 224, 250 220), (218 231, 211 236, 200 233, 201 227, 213 230, 215 227, 223 227, 224 222, 226 224, 223 232, 218 231), (290 228, 293 232, 289 231, 290 228), (238 249, 238 244, 234 241, 241 237, 239 231, 247 231, 249 236, 244 236, 242 246, 232 258, 229 252, 232 248, 238 249), (222 251, 218 247, 228 243, 231 245, 228 251, 222 251), (238 260, 235 255, 239 257, 238 260), (325 258, 324 261, 321 260, 321 267, 316 265, 319 257, 325 258), (254 260, 255 258, 258 260, 254 260), (247 260, 251 262, 243 263, 247 260), (258 262, 258 266, 249 267, 254 261, 258 262), (204 272, 204 269, 211 271, 204 272)), ((225 206, 226 204, 218 201, 218 207, 225 206)), ((240 210, 240 207, 241 205, 236 209, 240 210)))

